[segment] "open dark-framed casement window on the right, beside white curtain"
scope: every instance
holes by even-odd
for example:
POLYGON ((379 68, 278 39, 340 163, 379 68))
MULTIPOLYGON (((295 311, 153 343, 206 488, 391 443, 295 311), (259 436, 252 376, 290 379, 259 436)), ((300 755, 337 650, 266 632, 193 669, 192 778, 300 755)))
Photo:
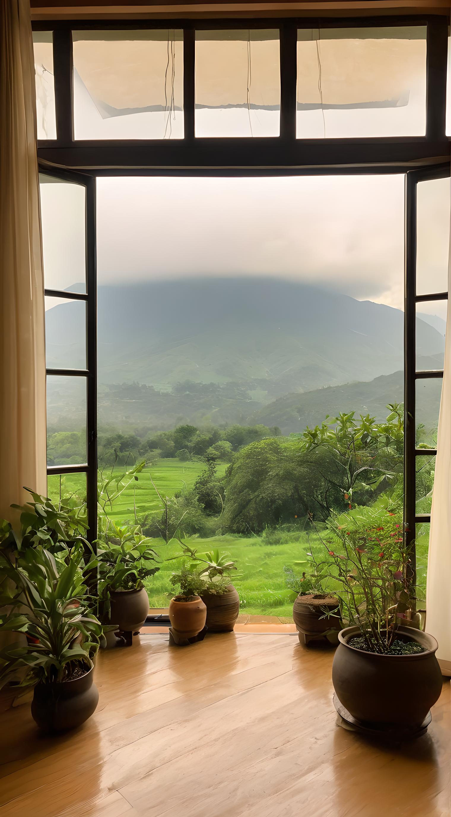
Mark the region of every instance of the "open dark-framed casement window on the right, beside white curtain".
POLYGON ((404 523, 420 595, 426 593, 427 542, 443 382, 449 184, 449 165, 406 174, 404 523), (443 336, 443 344, 431 348, 427 356, 418 355, 416 349, 418 331, 424 324, 443 336))

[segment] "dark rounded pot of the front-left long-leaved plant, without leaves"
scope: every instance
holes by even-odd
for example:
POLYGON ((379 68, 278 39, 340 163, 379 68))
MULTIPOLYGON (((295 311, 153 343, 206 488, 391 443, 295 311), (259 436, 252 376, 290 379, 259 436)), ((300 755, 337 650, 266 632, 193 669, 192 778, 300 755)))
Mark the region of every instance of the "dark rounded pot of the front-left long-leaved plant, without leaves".
POLYGON ((31 714, 42 732, 62 732, 87 721, 98 701, 99 691, 92 667, 74 681, 36 685, 31 714))

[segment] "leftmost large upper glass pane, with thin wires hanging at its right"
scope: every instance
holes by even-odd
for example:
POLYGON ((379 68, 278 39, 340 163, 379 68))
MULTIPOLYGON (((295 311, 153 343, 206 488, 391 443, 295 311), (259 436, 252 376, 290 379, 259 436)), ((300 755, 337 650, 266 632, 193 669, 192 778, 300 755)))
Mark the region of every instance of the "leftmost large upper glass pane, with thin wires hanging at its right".
POLYGON ((183 32, 73 31, 75 139, 182 139, 183 32))

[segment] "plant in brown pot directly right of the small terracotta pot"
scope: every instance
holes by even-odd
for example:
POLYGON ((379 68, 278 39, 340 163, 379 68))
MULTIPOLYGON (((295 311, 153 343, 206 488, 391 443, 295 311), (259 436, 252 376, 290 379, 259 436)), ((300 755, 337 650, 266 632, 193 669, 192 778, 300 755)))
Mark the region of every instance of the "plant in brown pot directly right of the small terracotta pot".
POLYGON ((229 553, 221 553, 218 549, 198 553, 183 545, 183 554, 197 565, 199 575, 207 580, 201 598, 207 607, 208 630, 232 632, 239 615, 239 595, 230 581, 230 572, 236 570, 236 562, 230 559, 229 553))

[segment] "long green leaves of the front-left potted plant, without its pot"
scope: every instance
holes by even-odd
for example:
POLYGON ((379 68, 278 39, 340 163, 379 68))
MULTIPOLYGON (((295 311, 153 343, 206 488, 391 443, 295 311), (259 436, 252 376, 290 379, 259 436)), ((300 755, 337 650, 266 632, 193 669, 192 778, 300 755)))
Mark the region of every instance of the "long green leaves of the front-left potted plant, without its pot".
POLYGON ((56 559, 45 548, 28 548, 16 563, 0 553, 0 569, 15 590, 0 596, 3 632, 26 636, 26 644, 0 652, 0 685, 25 668, 20 685, 70 680, 87 672, 99 649, 102 627, 90 609, 83 546, 56 559))

